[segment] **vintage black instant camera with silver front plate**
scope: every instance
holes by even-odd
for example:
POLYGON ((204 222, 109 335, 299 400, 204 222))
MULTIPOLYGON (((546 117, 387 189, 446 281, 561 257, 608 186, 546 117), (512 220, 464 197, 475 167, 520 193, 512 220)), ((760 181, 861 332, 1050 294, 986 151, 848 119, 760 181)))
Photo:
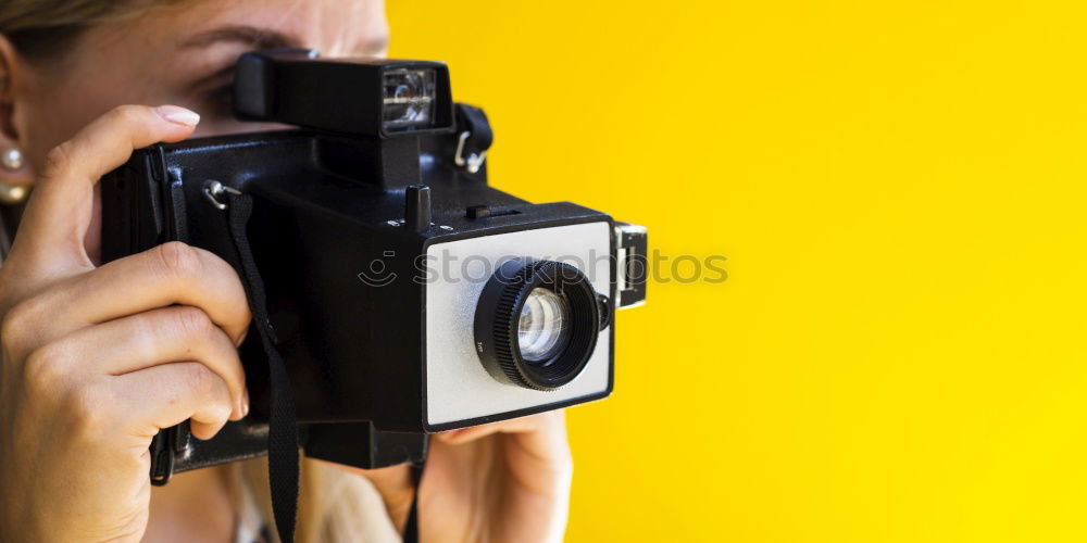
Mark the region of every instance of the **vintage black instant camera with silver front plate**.
MULTIPOLYGON (((490 127, 454 104, 445 64, 243 55, 240 118, 301 129, 137 151, 102 179, 103 258, 168 240, 240 272, 245 230, 304 454, 417 462, 426 434, 609 395, 614 314, 646 295, 646 230, 487 184, 490 127)), ((566 175, 555 172, 555 175, 566 175)), ((214 439, 152 445, 152 480, 267 451, 270 370, 241 348, 252 409, 214 439)))

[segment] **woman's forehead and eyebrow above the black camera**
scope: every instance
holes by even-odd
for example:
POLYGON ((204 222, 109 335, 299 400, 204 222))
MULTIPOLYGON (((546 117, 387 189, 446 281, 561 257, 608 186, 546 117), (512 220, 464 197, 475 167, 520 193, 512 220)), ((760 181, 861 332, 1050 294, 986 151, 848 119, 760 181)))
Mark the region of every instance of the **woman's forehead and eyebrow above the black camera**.
MULTIPOLYGON (((152 2, 153 3, 153 2, 152 2)), ((245 51, 316 49, 323 56, 383 55, 382 0, 180 0, 91 27, 74 54, 43 74, 52 99, 78 90, 101 111, 170 98, 245 51)))

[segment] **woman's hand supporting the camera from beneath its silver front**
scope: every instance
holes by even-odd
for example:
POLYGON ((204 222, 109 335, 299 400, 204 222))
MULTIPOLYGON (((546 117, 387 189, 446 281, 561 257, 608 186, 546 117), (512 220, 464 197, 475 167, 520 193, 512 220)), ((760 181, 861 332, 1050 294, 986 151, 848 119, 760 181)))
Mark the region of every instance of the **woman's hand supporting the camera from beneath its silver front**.
MULTIPOLYGON (((349 468, 350 469, 350 468, 349 468)), ((403 531, 408 466, 367 477, 403 531)), ((573 460, 562 411, 433 435, 418 496, 421 541, 562 541, 573 460)))

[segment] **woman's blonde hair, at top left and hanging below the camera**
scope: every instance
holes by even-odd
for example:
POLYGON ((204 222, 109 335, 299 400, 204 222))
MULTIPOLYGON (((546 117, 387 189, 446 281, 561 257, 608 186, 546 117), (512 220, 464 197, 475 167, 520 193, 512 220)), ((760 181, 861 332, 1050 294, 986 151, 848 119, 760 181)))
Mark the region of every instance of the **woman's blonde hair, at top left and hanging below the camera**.
MULTIPOLYGON (((55 61, 97 24, 195 1, 199 0, 0 0, 0 35, 29 61, 55 61)), ((267 460, 258 458, 210 469, 218 470, 236 504, 242 503, 245 492, 251 493, 274 539, 267 460)), ((303 458, 296 539, 399 541, 399 535, 385 513, 382 496, 368 480, 303 458)))

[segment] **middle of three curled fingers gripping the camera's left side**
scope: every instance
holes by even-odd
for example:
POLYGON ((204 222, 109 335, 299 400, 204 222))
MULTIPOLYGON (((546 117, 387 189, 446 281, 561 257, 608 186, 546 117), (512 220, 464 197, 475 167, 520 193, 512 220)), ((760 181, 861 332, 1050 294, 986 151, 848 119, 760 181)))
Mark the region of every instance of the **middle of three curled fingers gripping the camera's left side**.
POLYGON ((249 412, 246 372, 229 337, 198 307, 152 310, 84 328, 50 345, 66 372, 121 376, 176 362, 199 362, 230 392, 230 419, 249 412))

